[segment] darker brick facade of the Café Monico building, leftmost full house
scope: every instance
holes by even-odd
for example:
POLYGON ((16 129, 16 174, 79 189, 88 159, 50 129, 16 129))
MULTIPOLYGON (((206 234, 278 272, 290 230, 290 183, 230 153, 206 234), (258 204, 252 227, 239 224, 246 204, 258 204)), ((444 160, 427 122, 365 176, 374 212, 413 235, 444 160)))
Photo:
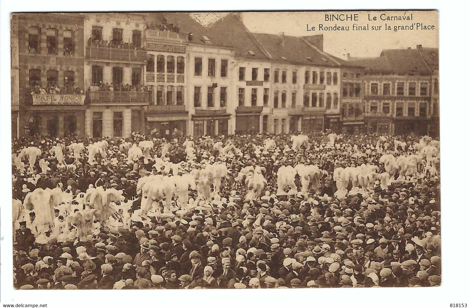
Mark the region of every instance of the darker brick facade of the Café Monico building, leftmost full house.
POLYGON ((84 135, 83 17, 18 14, 19 135, 84 135))

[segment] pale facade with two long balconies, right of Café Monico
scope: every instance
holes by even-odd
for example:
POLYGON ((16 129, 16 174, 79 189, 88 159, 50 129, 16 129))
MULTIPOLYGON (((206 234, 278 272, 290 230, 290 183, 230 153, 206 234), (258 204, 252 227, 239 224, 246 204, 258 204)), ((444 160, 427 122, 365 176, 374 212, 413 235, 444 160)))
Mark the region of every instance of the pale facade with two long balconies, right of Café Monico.
POLYGON ((90 137, 129 137, 144 131, 145 15, 85 14, 84 52, 87 103, 85 131, 90 137))

